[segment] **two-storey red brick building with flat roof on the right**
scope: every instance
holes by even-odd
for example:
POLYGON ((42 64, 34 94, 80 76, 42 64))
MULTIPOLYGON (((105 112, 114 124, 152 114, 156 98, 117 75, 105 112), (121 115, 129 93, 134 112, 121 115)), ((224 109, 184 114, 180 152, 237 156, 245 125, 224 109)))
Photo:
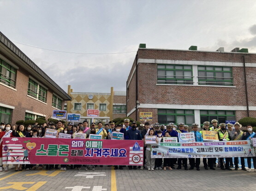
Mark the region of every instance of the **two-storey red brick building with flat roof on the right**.
POLYGON ((149 49, 140 44, 127 79, 127 116, 152 123, 198 123, 256 117, 256 54, 149 49))

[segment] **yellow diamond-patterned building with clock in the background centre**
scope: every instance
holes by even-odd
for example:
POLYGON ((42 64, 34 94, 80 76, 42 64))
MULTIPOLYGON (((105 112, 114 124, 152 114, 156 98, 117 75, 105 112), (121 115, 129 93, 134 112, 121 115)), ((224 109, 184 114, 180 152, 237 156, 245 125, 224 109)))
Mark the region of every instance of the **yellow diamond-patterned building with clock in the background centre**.
POLYGON ((126 116, 126 92, 114 91, 111 87, 110 93, 73 92, 68 86, 68 95, 71 101, 66 101, 67 113, 80 113, 81 120, 88 120, 92 123, 92 117, 87 117, 88 109, 99 110, 99 117, 94 117, 94 122, 108 123, 114 118, 126 116))

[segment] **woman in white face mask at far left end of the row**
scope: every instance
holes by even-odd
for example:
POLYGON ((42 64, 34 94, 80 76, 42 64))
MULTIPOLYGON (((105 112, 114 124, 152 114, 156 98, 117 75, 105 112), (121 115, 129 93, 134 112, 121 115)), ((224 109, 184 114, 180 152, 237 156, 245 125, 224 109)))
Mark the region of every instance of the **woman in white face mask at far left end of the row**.
MULTIPOLYGON (((12 130, 10 124, 1 123, 0 126, 4 126, 4 128, 0 127, 0 172, 3 171, 3 138, 12 137, 12 130)), ((6 164, 5 171, 8 170, 8 164, 6 164)))

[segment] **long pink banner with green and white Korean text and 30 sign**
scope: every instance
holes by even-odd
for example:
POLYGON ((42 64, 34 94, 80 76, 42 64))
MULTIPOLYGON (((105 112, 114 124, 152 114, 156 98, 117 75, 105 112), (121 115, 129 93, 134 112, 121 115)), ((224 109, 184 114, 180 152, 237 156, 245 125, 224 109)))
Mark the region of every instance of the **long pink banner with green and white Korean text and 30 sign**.
POLYGON ((143 140, 3 139, 4 164, 143 165, 143 140))

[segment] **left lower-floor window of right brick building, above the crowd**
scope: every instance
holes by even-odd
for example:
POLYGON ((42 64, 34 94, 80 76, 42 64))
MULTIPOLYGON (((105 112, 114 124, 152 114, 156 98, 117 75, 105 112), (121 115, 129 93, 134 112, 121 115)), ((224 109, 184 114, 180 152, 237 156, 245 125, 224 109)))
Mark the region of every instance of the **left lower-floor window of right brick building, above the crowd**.
POLYGON ((158 109, 158 123, 191 125, 195 123, 194 110, 184 109, 158 109))

